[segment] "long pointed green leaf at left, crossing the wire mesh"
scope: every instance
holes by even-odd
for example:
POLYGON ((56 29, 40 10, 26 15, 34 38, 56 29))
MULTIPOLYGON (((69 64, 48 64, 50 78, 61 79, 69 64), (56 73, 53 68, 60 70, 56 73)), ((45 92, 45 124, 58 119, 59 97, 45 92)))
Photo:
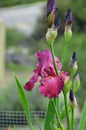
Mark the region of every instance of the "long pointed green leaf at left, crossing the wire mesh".
POLYGON ((15 76, 15 79, 16 79, 16 84, 17 84, 17 89, 18 89, 18 95, 19 95, 22 107, 24 109, 24 112, 26 114, 28 125, 30 126, 30 130, 34 130, 31 123, 30 109, 29 109, 28 101, 26 99, 25 92, 16 76, 15 76))

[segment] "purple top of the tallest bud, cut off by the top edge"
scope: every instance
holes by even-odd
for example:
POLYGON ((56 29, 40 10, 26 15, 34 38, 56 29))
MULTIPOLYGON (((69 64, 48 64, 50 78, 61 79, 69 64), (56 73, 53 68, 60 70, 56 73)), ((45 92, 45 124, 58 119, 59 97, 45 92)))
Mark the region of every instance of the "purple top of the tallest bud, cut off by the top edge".
POLYGON ((55 0, 48 0, 46 6, 46 15, 48 16, 51 12, 54 14, 57 11, 56 1, 55 0))

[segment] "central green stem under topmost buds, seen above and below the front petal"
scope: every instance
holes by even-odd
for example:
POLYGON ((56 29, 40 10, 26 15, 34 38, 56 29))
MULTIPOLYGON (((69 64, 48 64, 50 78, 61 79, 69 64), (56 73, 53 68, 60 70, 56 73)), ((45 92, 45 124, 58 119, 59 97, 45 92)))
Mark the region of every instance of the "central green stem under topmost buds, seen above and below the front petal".
MULTIPOLYGON (((58 75, 58 67, 57 67, 57 64, 56 64, 56 60, 55 60, 55 53, 54 53, 54 49, 53 49, 53 44, 50 45, 50 49, 51 49, 51 54, 52 54, 52 58, 53 58, 53 63, 54 63, 54 68, 56 70, 56 74, 58 75)), ((57 104, 57 111, 58 111, 58 114, 60 115, 60 101, 59 101, 59 96, 58 98, 56 99, 56 104, 57 104)))

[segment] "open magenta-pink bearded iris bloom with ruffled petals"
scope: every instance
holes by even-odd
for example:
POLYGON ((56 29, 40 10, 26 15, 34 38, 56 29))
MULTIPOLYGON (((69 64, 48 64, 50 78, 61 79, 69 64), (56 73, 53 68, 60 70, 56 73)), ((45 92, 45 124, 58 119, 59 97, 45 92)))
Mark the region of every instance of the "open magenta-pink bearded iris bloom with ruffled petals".
MULTIPOLYGON (((64 80, 63 77, 56 75, 50 51, 48 49, 44 51, 38 51, 35 56, 37 57, 39 63, 34 70, 34 75, 29 81, 27 81, 24 89, 31 91, 35 83, 38 81, 38 76, 40 76, 40 93, 49 98, 57 97, 63 89, 64 80)), ((57 57, 55 59, 58 70, 60 71, 61 63, 57 57)))

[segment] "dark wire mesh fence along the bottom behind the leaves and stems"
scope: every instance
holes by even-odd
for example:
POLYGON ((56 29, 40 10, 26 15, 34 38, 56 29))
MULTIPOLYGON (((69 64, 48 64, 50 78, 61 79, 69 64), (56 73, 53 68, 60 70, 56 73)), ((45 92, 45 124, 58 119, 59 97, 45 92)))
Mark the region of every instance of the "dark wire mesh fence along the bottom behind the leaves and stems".
MULTIPOLYGON (((30 115, 34 124, 37 120, 44 120, 45 111, 31 111, 30 115)), ((75 130, 77 130, 78 123, 79 120, 76 120, 75 130)), ((0 130, 4 130, 8 126, 16 126, 17 130, 27 130, 27 120, 24 111, 0 111, 0 130)), ((86 130, 86 125, 84 130, 86 130)))

